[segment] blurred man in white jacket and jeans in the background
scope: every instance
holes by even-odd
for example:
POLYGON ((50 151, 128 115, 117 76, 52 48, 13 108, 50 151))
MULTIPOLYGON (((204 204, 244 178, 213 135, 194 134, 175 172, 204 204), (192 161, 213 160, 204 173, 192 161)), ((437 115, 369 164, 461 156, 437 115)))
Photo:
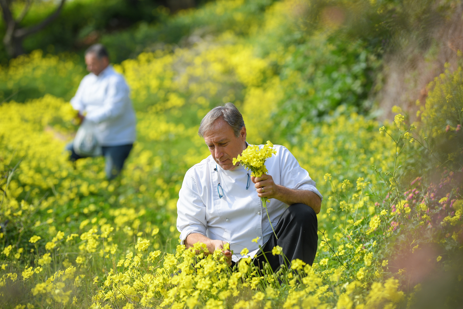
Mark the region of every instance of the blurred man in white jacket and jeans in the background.
MULTIPOLYGON (((136 137, 130 90, 124 77, 109 64, 108 52, 102 44, 86 50, 85 63, 90 74, 82 79, 71 105, 79 112, 81 121, 92 125, 106 159, 106 176, 113 179, 122 170, 136 137)), ((86 157, 76 153, 74 141, 66 150, 71 151, 71 161, 86 157)))

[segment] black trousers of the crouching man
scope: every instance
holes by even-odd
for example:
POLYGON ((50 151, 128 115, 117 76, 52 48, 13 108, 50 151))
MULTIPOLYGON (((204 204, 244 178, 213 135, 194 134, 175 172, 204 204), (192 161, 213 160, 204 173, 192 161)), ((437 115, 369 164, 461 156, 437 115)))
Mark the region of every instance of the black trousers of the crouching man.
POLYGON ((308 265, 313 264, 318 245, 318 221, 315 211, 310 206, 301 203, 289 206, 273 228, 278 239, 272 233, 269 241, 254 259, 254 265, 263 269, 263 263, 267 263, 268 260, 275 272, 280 265, 290 267, 294 259, 300 259, 308 265), (275 246, 283 248, 282 255, 272 254, 275 246))

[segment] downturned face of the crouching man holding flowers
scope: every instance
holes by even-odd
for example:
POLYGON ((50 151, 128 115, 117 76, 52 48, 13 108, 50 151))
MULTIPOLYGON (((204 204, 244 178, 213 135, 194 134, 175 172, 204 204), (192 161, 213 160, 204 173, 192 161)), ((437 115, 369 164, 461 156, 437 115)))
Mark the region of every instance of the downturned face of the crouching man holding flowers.
POLYGON ((215 120, 213 130, 204 137, 204 141, 215 162, 224 170, 233 170, 233 158, 238 157, 246 148, 246 127, 235 137, 232 127, 219 118, 215 120))

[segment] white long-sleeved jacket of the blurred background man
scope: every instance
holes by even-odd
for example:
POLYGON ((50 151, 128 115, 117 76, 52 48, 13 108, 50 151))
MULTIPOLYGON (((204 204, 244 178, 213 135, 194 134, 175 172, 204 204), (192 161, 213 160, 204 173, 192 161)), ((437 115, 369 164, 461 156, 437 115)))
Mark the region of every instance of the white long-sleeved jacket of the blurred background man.
POLYGON ((112 66, 96 76, 85 76, 71 105, 85 114, 86 121, 96 126, 95 135, 101 146, 119 146, 135 141, 136 118, 129 98, 129 86, 112 66))

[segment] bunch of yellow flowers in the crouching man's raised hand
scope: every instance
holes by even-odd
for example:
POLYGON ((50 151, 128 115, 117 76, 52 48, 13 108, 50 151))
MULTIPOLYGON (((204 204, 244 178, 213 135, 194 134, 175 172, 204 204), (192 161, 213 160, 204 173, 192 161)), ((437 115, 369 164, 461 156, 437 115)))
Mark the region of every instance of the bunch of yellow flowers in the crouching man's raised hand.
POLYGON ((240 162, 248 170, 251 170, 251 176, 262 177, 262 174, 268 172, 265 167, 265 160, 270 158, 272 154, 276 154, 276 150, 272 148, 273 144, 268 140, 262 149, 258 145, 248 145, 243 153, 238 155, 238 158, 233 158, 233 164, 240 162))

